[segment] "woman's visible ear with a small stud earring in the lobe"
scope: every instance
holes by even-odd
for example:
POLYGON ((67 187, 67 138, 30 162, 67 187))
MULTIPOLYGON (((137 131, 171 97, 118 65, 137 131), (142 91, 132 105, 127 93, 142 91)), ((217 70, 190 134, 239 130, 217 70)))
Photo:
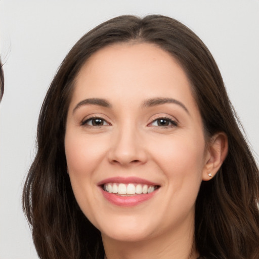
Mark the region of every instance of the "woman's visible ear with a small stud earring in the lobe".
POLYGON ((225 133, 215 134, 207 144, 207 156, 202 180, 208 181, 217 174, 228 154, 228 137, 225 133))

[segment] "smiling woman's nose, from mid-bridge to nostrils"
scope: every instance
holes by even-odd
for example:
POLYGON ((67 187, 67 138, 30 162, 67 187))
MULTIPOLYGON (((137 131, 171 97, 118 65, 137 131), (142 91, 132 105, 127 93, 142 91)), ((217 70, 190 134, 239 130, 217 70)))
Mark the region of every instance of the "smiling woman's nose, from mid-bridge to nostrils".
POLYGON ((143 137, 134 127, 124 126, 112 136, 108 159, 112 164, 130 166, 147 162, 147 151, 143 137))

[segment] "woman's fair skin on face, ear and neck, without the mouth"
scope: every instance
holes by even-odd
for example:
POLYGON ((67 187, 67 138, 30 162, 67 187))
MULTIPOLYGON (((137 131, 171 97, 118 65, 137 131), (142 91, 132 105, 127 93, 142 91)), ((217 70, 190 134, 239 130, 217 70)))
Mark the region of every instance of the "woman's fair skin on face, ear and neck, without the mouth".
POLYGON ((197 258, 195 199, 202 180, 221 166, 227 140, 220 133, 205 142, 190 83, 176 59, 146 43, 96 52, 76 78, 65 152, 75 198, 101 231, 108 259, 197 258), (111 107, 82 103, 89 98, 105 99, 111 107), (181 104, 147 105, 152 98, 181 104), (117 206, 98 186, 110 177, 139 177, 160 188, 136 206, 117 206))

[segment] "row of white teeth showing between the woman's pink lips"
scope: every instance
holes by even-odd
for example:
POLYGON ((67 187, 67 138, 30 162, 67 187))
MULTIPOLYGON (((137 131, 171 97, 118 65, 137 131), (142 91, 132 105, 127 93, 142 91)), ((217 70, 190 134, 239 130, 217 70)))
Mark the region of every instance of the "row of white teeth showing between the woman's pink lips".
POLYGON ((136 183, 107 183, 102 186, 108 193, 114 193, 119 196, 132 196, 137 194, 152 193, 159 188, 157 185, 136 184, 136 183))

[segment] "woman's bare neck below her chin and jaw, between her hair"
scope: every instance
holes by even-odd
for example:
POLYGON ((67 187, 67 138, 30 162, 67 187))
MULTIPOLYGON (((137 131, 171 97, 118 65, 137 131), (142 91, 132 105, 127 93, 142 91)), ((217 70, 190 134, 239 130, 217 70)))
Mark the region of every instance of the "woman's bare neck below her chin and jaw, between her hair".
POLYGON ((196 259, 194 224, 138 241, 121 241, 102 234, 107 259, 196 259))

